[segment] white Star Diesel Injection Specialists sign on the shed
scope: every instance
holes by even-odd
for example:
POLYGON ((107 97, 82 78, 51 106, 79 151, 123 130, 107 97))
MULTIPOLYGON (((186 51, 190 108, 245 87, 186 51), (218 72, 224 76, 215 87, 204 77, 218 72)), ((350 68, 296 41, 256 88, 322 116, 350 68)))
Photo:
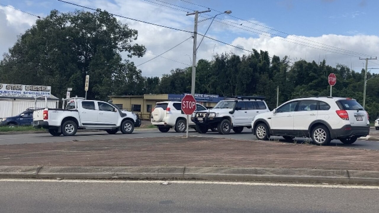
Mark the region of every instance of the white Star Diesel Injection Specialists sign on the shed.
POLYGON ((50 91, 50 86, 0 84, 0 96, 2 97, 34 98, 45 95, 50 98, 50 91))

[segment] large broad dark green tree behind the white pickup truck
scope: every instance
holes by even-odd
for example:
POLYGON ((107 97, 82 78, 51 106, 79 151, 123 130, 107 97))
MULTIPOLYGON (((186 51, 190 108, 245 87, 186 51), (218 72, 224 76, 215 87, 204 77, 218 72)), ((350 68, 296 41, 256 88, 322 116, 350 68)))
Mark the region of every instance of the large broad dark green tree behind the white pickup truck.
POLYGON ((67 87, 84 96, 85 76, 90 75, 88 98, 107 99, 112 93, 140 93, 132 86, 140 77, 134 64, 122 61, 141 57, 143 45, 132 44, 138 32, 117 21, 106 11, 50 12, 44 19, 19 36, 16 44, 0 62, 0 80, 14 84, 52 86, 52 94, 63 97, 67 87), (129 73, 130 72, 130 73, 129 73), (129 74, 128 74, 129 73, 129 74), (128 76, 125 84, 117 80, 128 76))

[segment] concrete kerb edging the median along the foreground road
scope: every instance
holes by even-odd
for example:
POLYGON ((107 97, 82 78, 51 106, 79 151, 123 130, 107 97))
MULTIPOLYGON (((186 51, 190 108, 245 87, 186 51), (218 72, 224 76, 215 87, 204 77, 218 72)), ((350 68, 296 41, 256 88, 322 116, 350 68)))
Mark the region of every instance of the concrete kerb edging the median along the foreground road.
POLYGON ((200 179, 379 185, 379 171, 186 166, 0 166, 0 178, 200 179))

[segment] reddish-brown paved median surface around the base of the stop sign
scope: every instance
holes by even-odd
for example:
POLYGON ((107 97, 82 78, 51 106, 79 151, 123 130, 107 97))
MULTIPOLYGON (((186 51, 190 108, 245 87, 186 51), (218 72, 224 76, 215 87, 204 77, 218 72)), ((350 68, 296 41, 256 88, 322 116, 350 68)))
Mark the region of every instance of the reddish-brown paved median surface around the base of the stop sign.
POLYGON ((0 165, 241 166, 379 170, 379 151, 202 137, 2 145, 0 165))

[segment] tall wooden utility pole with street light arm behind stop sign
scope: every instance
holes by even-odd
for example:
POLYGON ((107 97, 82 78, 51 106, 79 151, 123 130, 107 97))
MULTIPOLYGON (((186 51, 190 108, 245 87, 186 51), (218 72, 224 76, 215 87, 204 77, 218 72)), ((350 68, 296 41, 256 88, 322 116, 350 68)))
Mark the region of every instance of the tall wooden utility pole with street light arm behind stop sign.
MULTIPOLYGON (((199 18, 199 13, 203 13, 203 12, 210 12, 210 10, 200 11, 200 12, 195 11, 193 13, 187 13, 186 14, 186 16, 195 15, 195 25, 194 25, 194 32, 193 32, 192 80, 191 80, 191 95, 193 95, 193 96, 195 96, 195 79, 196 79, 196 51, 197 51, 196 42, 197 42, 197 23, 198 23, 197 19, 199 18)), ((220 14, 217 14, 216 16, 221 15, 221 14, 230 14, 230 13, 232 13, 232 11, 227 10, 227 11, 221 12, 220 14)), ((216 16, 213 16, 209 19, 213 18, 213 20, 215 20, 216 16)), ((202 21, 205 21, 205 20, 207 20, 207 19, 204 19, 202 21)), ((212 22, 213 22, 213 20, 212 20, 212 22)), ((211 22, 211 24, 212 24, 212 22, 211 22)), ((205 32, 205 34, 207 34, 210 26, 211 25, 208 26, 208 29, 205 32)), ((204 34, 204 36, 205 36, 205 34, 204 34)), ((203 36, 203 39, 204 39, 204 36, 203 36)), ((200 41, 200 44, 201 44, 201 41, 200 41)))

